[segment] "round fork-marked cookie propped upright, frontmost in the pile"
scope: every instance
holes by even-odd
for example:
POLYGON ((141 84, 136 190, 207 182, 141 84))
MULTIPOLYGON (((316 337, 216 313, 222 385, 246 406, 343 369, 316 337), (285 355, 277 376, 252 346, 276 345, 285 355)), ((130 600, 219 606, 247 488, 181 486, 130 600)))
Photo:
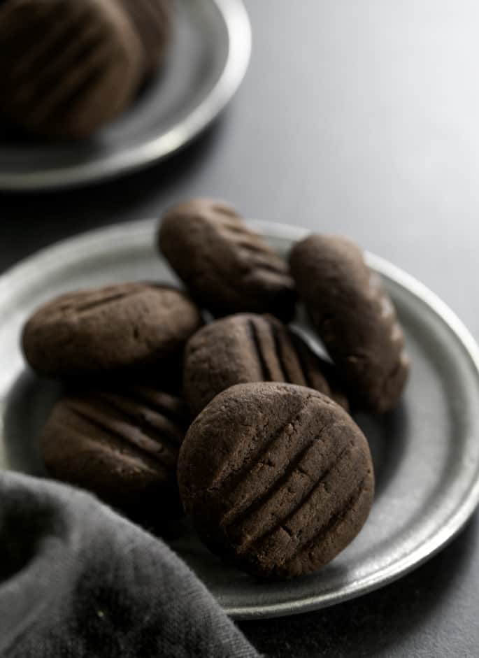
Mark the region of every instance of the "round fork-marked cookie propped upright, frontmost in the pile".
POLYGON ((210 550, 266 578, 327 564, 362 528, 373 501, 369 445, 317 391, 238 384, 187 431, 178 459, 183 506, 210 550))

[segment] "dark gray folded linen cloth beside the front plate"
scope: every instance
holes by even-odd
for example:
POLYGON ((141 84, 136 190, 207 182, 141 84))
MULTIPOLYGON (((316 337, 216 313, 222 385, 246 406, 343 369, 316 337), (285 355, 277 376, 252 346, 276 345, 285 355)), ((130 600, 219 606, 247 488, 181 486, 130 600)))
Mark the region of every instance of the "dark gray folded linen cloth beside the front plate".
POLYGON ((159 539, 92 496, 0 474, 0 656, 257 656, 159 539))

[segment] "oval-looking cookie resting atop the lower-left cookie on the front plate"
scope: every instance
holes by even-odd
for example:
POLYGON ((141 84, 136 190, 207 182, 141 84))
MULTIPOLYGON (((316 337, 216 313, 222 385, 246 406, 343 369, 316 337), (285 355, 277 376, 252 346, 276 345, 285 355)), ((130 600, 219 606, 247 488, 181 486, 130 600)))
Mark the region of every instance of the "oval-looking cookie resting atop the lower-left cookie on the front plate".
POLYGON ((154 364, 201 324, 183 293, 146 283, 71 292, 41 306, 23 330, 24 355, 38 373, 68 377, 154 364))

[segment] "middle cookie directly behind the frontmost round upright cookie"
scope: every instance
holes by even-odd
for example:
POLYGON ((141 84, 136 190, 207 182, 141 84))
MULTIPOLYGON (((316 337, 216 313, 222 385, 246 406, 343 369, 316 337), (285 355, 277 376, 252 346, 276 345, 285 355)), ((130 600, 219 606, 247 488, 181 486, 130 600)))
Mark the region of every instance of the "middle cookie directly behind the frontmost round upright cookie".
POLYGON ((272 315, 230 315, 203 327, 187 342, 183 386, 195 414, 234 384, 262 381, 307 386, 348 407, 334 366, 272 315))

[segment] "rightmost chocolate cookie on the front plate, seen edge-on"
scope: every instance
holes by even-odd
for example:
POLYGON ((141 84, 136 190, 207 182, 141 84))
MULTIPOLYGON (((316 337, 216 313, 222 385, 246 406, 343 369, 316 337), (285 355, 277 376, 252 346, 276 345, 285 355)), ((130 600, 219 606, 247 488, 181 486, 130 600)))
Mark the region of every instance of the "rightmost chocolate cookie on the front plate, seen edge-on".
POLYGON ((294 245, 290 262, 350 400, 376 413, 394 408, 409 360, 394 306, 362 251, 347 238, 312 235, 294 245))

